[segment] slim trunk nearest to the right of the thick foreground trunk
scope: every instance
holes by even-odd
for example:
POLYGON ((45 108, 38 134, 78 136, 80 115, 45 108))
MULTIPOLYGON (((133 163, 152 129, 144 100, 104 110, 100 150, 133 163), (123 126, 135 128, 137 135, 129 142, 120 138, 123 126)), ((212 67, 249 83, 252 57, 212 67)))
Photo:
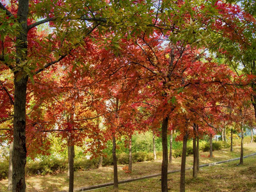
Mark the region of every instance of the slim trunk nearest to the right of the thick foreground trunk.
POLYGON ((68 172, 69 172, 69 188, 68 192, 74 191, 74 145, 68 146, 68 172))

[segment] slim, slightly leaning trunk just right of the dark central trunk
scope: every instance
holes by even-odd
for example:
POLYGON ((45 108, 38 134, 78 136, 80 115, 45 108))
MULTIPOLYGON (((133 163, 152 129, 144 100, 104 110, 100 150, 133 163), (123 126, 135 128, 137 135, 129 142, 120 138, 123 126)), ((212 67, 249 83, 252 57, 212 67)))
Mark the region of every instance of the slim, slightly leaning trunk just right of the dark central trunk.
POLYGON ((180 192, 185 192, 186 153, 187 153, 188 132, 183 136, 181 168, 180 168, 180 192))

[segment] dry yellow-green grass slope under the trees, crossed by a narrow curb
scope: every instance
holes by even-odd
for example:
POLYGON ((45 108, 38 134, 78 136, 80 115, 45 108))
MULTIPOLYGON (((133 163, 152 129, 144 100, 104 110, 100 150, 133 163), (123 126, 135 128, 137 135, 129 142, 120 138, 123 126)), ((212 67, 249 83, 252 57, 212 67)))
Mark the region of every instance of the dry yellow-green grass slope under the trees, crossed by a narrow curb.
MULTIPOLYGON (((256 143, 244 145, 244 156, 255 152, 256 143)), ((223 161, 239 157, 239 147, 234 147, 234 152, 229 149, 214 151, 214 157, 209 158, 209 152, 200 152, 200 164, 223 161)), ((200 173, 196 179, 192 178, 192 170, 186 172, 186 191, 256 191, 256 157, 244 159, 244 165, 237 166, 239 161, 218 164, 200 168, 200 173)), ((193 164, 193 157, 187 157, 187 166, 193 164)), ((132 173, 125 173, 122 168, 125 165, 118 166, 118 179, 131 179, 144 175, 151 175, 161 172, 161 160, 135 163, 132 166, 132 173)), ((169 170, 180 169, 180 157, 173 159, 169 164, 169 170)), ((179 173, 168 175, 168 188, 170 191, 179 191, 179 173)), ((75 188, 92 186, 113 181, 113 168, 111 166, 101 169, 91 169, 75 172, 75 188)), ((35 176, 26 178, 28 192, 41 191, 61 191, 68 190, 67 173, 56 175, 35 176)), ((1 180, 0 191, 6 191, 8 180, 1 180)), ((138 180, 119 185, 120 192, 126 191, 161 191, 160 177, 152 179, 138 180)), ((94 191, 112 191, 112 187, 97 189, 94 191)))

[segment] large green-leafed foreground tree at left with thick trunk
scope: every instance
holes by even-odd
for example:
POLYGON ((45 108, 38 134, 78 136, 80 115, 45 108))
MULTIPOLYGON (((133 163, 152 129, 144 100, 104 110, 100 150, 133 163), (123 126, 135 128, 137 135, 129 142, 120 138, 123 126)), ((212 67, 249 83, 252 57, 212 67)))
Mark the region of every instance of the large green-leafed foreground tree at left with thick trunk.
MULTIPOLYGON (((100 31, 110 28, 100 28, 100 24, 108 22, 111 30, 122 34, 122 31, 127 31, 127 26, 134 23, 134 19, 139 19, 132 15, 128 17, 134 13, 134 8, 150 9, 150 4, 141 6, 138 2, 138 7, 127 6, 128 4, 131 3, 28 0, 11 1, 10 6, 0 3, 3 20, 1 26, 4 29, 1 30, 0 60, 1 64, 10 68, 14 74, 13 191, 26 189, 26 89, 29 77, 30 81, 33 81, 33 76, 63 60, 77 46, 83 44, 84 37, 96 28, 100 31), (121 17, 123 13, 127 14, 126 17, 121 17), (122 18, 128 19, 120 21, 122 18), (117 25, 119 22, 123 24, 117 25), (51 26, 49 34, 36 33, 36 27, 47 23, 51 26), (83 35, 77 36, 77 33, 83 35)), ((147 20, 145 19, 145 22, 147 20)))

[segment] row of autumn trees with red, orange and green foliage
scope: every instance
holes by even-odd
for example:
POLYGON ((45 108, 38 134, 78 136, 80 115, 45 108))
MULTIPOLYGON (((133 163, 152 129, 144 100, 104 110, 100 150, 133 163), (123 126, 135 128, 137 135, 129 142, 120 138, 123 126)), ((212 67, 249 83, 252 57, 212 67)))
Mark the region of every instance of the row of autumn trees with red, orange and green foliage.
MULTIPOLYGON (((74 145, 89 138, 88 150, 101 155, 112 140, 118 190, 116 138, 152 129, 161 134, 168 191, 168 131, 180 132, 186 154, 188 138, 252 122, 255 18, 240 4, 0 3, 1 140, 13 141, 12 190, 26 190, 26 157, 47 154, 49 132, 68 146, 70 169, 74 145)), ((73 179, 71 170, 70 191, 73 179)))

